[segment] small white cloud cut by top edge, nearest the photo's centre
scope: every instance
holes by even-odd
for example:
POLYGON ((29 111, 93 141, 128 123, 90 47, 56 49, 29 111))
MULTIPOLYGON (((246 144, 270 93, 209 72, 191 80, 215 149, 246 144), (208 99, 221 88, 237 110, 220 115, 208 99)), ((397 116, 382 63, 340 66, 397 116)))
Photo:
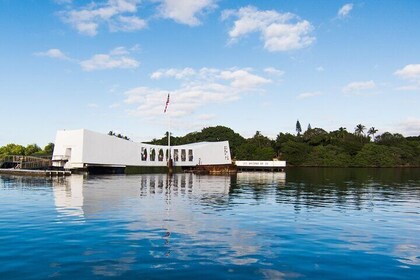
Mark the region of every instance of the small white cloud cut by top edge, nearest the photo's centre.
POLYGON ((215 0, 160 0, 160 15, 190 26, 199 25, 198 16, 216 7, 215 0))

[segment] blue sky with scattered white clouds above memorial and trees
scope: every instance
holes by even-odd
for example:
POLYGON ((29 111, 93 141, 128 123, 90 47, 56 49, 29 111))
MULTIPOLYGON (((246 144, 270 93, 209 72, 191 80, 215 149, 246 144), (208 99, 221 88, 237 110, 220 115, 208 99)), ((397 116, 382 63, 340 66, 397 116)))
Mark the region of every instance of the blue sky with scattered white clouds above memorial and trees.
POLYGON ((420 134, 420 2, 0 0, 0 145, 225 125, 420 134), (171 100, 163 113, 167 94, 171 100))

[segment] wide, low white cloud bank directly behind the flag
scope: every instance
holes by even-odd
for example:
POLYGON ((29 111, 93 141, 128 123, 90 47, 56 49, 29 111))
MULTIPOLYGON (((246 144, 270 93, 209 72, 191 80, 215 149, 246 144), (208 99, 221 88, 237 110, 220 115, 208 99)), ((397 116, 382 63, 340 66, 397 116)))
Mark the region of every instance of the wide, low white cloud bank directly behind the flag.
POLYGON ((150 120, 161 116, 166 97, 170 92, 171 99, 167 113, 175 118, 187 117, 195 113, 199 107, 232 102, 240 99, 242 94, 259 92, 265 84, 271 82, 247 68, 171 68, 160 69, 151 75, 152 80, 164 78, 175 79, 180 84, 174 90, 137 87, 125 92, 125 104, 134 107, 129 110, 130 114, 150 120))

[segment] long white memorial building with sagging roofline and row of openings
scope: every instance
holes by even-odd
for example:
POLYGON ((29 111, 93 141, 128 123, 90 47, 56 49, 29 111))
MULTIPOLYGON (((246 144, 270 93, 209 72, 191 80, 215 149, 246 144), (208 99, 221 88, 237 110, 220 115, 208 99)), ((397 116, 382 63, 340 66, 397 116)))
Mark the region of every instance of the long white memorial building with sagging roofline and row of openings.
POLYGON ((231 164, 228 141, 200 142, 181 146, 135 143, 86 129, 57 131, 53 166, 65 169, 127 166, 174 166, 231 164))

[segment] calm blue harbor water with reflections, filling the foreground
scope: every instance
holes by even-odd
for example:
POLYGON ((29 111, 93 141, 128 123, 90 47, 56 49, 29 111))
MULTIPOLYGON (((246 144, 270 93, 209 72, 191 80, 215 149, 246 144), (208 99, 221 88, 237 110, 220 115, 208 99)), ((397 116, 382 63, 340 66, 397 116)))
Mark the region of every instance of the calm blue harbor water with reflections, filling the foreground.
POLYGON ((420 169, 0 176, 0 279, 419 279, 420 169))

